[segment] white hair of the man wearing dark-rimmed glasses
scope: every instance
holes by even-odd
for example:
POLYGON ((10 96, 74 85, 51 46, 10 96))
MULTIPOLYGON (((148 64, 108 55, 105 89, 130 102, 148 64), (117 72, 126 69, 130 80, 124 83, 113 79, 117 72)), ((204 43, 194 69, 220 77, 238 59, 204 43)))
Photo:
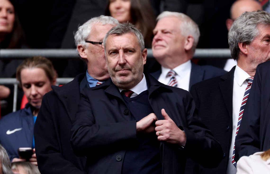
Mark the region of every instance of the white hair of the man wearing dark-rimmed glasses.
POLYGON ((119 22, 111 16, 104 16, 104 15, 89 19, 88 21, 83 23, 83 25, 79 26, 77 32, 75 33, 74 39, 76 47, 79 44, 83 46, 86 45, 85 40, 89 37, 92 27, 97 23, 101 23, 102 25, 106 24, 117 25, 119 22))

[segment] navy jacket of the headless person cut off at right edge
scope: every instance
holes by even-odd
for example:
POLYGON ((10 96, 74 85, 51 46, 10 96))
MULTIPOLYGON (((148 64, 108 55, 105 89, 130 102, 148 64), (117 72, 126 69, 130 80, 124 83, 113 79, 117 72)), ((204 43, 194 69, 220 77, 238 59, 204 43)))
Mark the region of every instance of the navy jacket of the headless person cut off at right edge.
POLYGON ((270 149, 270 61, 259 64, 238 134, 235 161, 241 156, 270 149))

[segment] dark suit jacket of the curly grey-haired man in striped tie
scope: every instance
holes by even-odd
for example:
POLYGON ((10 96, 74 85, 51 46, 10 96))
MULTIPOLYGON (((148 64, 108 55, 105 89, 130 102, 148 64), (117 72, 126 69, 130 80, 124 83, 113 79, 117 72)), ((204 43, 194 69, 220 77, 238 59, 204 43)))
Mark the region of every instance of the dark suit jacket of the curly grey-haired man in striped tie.
POLYGON ((201 81, 190 88, 190 94, 198 108, 198 115, 220 142, 224 152, 220 165, 214 169, 202 168, 201 166, 198 169, 195 163, 188 162, 187 168, 193 168, 195 170, 193 173, 226 174, 232 137, 234 70, 235 67, 222 76, 201 81))

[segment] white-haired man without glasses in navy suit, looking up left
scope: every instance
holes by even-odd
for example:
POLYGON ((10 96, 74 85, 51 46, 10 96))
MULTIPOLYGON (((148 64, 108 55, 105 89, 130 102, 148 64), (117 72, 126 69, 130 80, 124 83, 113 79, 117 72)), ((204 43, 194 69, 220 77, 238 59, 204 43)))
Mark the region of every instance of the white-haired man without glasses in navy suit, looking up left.
POLYGON ((153 30, 152 51, 161 69, 151 75, 158 81, 168 84, 168 73, 174 71, 177 87, 189 90, 194 83, 227 72, 217 67, 199 66, 191 62, 200 31, 198 25, 187 15, 165 11, 158 15, 157 21, 153 30))

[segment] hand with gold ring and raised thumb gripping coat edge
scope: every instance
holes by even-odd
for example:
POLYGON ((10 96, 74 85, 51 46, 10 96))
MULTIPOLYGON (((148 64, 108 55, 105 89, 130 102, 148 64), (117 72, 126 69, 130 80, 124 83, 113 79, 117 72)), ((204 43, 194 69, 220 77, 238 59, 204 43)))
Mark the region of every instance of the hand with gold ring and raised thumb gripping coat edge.
POLYGON ((165 120, 156 121, 155 131, 158 141, 185 146, 187 140, 185 132, 177 127, 164 109, 161 110, 161 114, 165 120))

